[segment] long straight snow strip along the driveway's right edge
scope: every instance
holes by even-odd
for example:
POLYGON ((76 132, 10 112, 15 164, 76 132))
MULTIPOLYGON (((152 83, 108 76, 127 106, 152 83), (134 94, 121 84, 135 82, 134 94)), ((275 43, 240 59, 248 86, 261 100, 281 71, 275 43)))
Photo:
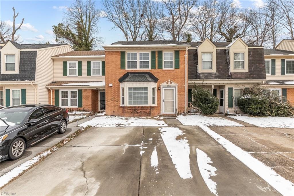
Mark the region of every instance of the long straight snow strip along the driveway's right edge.
POLYGON ((293 196, 294 193, 294 183, 286 180, 282 176, 278 175, 270 167, 264 165, 259 160, 252 157, 249 153, 245 152, 229 140, 220 136, 209 127, 200 126, 205 132, 207 132, 213 139, 220 143, 228 152, 230 152, 234 157, 240 160, 243 164, 249 167, 253 172, 263 178, 268 184, 275 188, 284 196, 293 196))

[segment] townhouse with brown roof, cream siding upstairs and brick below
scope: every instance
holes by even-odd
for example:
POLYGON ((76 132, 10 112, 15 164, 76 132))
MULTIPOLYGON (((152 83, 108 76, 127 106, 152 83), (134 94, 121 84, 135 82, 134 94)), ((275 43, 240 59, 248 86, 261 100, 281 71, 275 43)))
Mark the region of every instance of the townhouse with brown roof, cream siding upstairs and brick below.
POLYGON ((71 51, 51 59, 53 79, 46 84, 49 104, 72 110, 105 110, 104 51, 71 51))

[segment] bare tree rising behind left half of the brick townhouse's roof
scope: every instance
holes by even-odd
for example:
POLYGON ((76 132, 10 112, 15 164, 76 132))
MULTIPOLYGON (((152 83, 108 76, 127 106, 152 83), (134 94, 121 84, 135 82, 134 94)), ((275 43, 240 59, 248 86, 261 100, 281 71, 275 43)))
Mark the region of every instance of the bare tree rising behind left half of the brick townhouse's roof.
POLYGON ((140 0, 105 0, 103 1, 105 16, 120 29, 126 40, 142 39, 144 33, 145 1, 140 0))

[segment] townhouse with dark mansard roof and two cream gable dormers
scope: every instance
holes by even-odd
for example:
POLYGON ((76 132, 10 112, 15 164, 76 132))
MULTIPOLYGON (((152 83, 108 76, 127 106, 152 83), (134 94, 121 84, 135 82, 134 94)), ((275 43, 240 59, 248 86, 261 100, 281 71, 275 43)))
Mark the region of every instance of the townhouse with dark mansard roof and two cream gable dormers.
POLYGON ((219 99, 220 113, 240 112, 237 100, 244 88, 266 81, 263 47, 233 42, 190 43, 188 51, 188 105, 192 89, 201 84, 219 99))

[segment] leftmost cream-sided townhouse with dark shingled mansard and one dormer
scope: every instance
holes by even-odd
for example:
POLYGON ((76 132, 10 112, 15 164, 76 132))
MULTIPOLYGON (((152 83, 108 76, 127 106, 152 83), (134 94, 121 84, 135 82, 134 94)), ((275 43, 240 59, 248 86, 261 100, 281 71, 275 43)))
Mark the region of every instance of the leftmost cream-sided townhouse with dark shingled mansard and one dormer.
POLYGON ((51 57, 70 51, 69 44, 0 44, 0 105, 48 104, 51 57))

